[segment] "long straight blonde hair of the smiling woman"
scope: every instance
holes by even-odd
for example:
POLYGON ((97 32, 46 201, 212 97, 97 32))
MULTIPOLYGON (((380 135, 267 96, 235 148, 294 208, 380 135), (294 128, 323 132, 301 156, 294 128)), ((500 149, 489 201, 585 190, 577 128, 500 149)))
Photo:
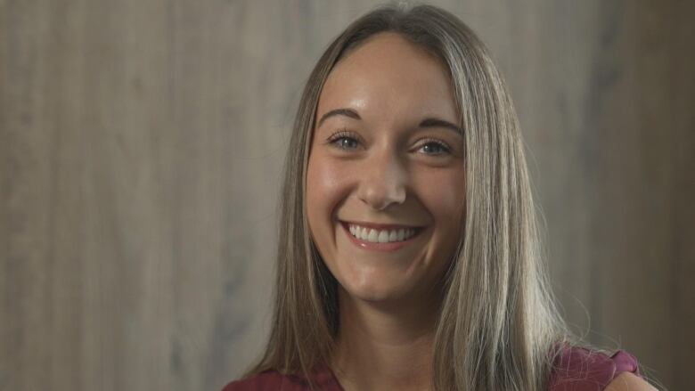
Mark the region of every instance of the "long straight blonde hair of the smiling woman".
POLYGON ((307 160, 319 94, 331 69, 380 32, 400 34, 446 65, 464 129, 466 216, 443 282, 432 386, 544 389, 553 346, 569 333, 547 289, 510 94, 485 45, 461 20, 434 6, 407 4, 381 6, 354 21, 308 78, 285 162, 272 330, 265 354, 245 377, 274 370, 311 380, 317 366, 331 362, 339 327, 337 281, 307 224, 307 160))

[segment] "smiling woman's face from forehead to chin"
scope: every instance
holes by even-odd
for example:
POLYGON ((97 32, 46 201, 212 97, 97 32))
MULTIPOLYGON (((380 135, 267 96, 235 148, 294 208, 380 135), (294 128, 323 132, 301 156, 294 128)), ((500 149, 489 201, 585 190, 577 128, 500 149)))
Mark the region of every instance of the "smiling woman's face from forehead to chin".
POLYGON ((462 235, 463 138, 446 69, 376 35, 331 71, 315 123, 307 218, 325 265, 352 297, 424 299, 462 235))

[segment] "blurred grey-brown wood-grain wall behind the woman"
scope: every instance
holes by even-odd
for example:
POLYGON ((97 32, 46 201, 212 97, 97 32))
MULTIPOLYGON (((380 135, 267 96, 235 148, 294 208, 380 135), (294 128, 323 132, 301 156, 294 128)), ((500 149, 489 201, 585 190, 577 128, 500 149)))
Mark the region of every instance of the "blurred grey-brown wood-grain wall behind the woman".
MULTIPOLYGON (((0 0, 0 390, 241 374, 301 89, 375 4, 0 0)), ((695 389, 695 4, 431 4, 511 88, 573 329, 695 389)))

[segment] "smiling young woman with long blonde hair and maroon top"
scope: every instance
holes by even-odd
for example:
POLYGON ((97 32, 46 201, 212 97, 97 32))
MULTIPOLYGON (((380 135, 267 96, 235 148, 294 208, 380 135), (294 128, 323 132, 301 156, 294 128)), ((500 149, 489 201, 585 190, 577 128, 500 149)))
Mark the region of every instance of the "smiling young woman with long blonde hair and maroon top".
POLYGON ((266 352, 225 391, 654 389, 556 313, 510 95, 441 9, 381 7, 323 53, 280 238, 266 352))

